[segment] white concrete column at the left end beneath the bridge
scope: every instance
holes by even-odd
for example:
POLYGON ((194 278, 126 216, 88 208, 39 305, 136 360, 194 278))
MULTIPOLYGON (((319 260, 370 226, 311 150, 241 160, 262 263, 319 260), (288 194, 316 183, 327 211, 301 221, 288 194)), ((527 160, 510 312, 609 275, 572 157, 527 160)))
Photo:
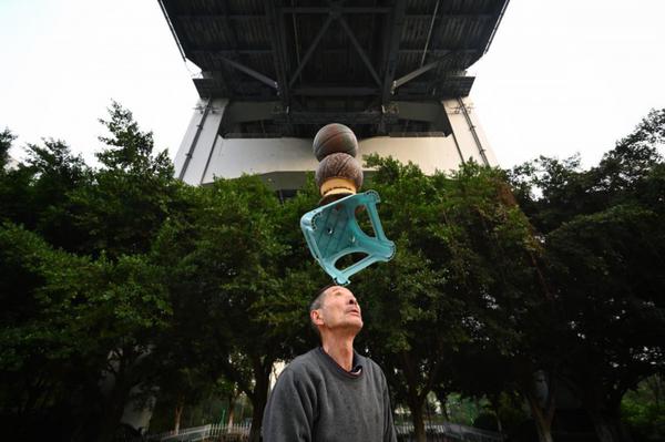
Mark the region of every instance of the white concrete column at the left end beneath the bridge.
POLYGON ((202 99, 175 155, 175 176, 187 184, 200 185, 209 163, 227 99, 202 99))

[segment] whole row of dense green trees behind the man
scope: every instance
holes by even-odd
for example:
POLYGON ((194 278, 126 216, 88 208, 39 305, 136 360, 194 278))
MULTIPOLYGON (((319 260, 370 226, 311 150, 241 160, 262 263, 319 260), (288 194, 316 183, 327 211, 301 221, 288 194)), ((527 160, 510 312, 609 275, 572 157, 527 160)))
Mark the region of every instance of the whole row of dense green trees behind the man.
MULTIPOLYGON (((243 391, 258 440, 274 363, 316 345, 307 307, 327 277, 298 229, 314 179, 286 202, 252 176, 187 186, 129 110, 101 123, 99 168, 47 138, 8 169, 16 136, 0 133, 2 422, 108 441, 132 402, 156 398, 175 424, 243 391)), ((641 401, 665 367, 664 142, 665 110, 587 169, 541 157, 428 176, 367 158, 398 253, 354 277, 357 345, 419 440, 432 392, 454 392, 513 425, 521 394, 549 441, 563 388, 603 442, 626 436, 622 412, 661 434, 641 401)))

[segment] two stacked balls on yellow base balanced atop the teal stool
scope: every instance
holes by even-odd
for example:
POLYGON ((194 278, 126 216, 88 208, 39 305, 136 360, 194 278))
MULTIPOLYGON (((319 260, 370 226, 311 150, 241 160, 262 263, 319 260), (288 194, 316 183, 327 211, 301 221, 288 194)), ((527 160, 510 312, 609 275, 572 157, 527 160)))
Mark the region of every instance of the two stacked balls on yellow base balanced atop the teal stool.
POLYGON ((339 123, 321 127, 314 137, 314 154, 319 161, 315 179, 320 206, 358 193, 362 166, 356 160, 358 140, 354 131, 339 123))

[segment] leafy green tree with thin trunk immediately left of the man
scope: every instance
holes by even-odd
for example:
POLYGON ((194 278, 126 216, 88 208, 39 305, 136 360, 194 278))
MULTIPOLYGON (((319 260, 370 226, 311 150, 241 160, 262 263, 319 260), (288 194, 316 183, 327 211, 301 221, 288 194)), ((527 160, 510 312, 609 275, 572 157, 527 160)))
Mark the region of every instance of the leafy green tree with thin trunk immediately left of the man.
MULTIPOLYGON (((174 330, 249 398, 256 441, 273 364, 293 352, 294 327, 276 326, 284 322, 273 306, 288 299, 287 285, 301 280, 286 265, 291 245, 279 235, 284 208, 257 177, 187 192, 190 212, 171 218, 155 246, 158 259, 173 264, 174 330)), ((314 291, 311 282, 295 289, 307 287, 314 291)), ((297 330, 306 323, 301 311, 297 330)))

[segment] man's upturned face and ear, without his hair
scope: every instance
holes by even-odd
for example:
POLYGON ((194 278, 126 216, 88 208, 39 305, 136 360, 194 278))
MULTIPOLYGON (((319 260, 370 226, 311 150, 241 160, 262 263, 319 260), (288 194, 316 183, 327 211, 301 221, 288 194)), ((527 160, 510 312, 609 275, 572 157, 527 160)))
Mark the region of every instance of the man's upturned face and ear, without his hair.
POLYGON ((334 286, 326 290, 321 308, 315 310, 314 323, 327 329, 362 328, 360 306, 351 291, 345 287, 334 286))

